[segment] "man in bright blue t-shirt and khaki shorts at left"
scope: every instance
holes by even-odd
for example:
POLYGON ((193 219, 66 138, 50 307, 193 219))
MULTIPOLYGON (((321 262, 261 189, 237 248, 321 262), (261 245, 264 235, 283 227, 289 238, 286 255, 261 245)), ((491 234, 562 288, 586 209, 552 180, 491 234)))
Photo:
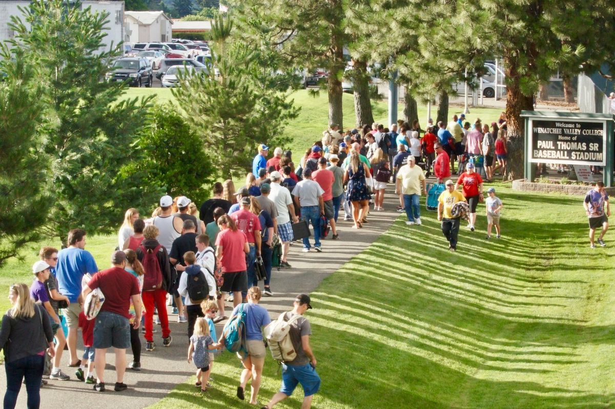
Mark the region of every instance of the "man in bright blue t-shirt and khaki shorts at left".
MULTIPOLYGON (((58 264, 55 266, 58 292, 66 295, 71 302, 68 308, 62 309, 68 325, 66 343, 71 355, 69 367, 78 367, 81 362, 77 357, 77 328, 79 328, 79 312, 84 301, 81 298, 81 280, 85 274, 93 276, 98 272, 92 254, 84 250, 85 234, 83 229, 73 229, 68 232, 68 248, 58 252, 58 264)), ((56 369, 59 368, 52 368, 52 375, 56 369)))

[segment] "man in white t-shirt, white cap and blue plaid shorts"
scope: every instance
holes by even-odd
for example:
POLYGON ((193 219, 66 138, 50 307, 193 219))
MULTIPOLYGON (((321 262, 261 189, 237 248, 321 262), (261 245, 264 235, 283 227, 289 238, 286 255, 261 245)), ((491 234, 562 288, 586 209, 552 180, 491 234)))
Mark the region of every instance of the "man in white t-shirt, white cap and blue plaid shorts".
POLYGON ((280 185, 282 181, 280 172, 271 172, 269 178, 271 178, 271 193, 269 193, 269 199, 276 204, 277 234, 282 242, 282 261, 280 261, 280 267, 290 268, 290 264, 288 264, 287 261, 288 246, 293 240, 293 227, 290 220, 292 217, 293 223, 297 223, 299 219, 295 215, 295 205, 293 205, 293 198, 290 196, 290 191, 280 185))

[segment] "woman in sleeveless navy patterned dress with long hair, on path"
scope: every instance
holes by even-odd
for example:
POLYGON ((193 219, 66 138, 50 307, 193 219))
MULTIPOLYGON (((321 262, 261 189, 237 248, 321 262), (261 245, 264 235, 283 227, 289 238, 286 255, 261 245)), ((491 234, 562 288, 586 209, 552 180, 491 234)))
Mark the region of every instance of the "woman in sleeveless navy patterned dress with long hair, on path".
POLYGON ((344 172, 344 181, 348 181, 347 196, 352 204, 353 229, 362 228, 361 221, 367 215, 369 208, 370 192, 365 183, 365 175, 370 172, 367 165, 361 162, 359 153, 352 149, 350 163, 344 172))

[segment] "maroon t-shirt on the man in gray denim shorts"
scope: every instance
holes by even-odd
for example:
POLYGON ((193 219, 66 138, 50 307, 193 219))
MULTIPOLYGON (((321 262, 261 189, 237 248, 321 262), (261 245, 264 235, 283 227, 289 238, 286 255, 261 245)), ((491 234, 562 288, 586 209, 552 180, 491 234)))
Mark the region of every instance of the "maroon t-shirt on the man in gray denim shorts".
POLYGON ((105 295, 105 303, 100 311, 113 312, 128 319, 130 296, 141 293, 137 277, 119 267, 97 272, 87 286, 92 290, 100 288, 105 295))

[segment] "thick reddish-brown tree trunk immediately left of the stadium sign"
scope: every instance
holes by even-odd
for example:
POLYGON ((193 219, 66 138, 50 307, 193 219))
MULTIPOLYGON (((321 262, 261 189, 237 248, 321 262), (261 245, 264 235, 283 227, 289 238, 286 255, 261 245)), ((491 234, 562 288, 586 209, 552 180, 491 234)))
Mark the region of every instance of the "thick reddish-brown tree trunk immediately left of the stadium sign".
POLYGON ((525 122, 521 111, 534 109, 533 95, 523 95, 521 90, 521 74, 518 73, 518 60, 515 57, 504 57, 506 66, 506 125, 508 148, 508 178, 522 179, 525 152, 525 122))

